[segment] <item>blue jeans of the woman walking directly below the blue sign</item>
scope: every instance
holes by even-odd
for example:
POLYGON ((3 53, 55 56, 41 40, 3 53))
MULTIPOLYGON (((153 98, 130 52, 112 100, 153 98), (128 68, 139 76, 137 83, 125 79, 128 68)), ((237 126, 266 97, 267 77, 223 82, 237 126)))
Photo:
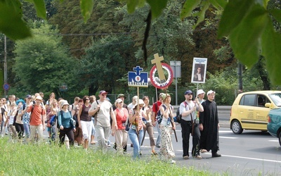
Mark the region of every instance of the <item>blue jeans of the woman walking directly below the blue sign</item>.
POLYGON ((139 158, 139 152, 141 151, 141 140, 143 139, 143 129, 140 130, 137 135, 136 130, 130 128, 128 134, 131 142, 133 143, 133 158, 139 158))

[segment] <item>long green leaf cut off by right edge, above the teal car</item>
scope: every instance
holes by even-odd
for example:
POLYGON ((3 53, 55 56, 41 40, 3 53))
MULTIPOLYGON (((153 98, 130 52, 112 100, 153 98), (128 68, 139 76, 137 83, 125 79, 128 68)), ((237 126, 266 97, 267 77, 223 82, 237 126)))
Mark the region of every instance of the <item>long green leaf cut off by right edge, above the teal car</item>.
MULTIPOLYGON (((270 18, 268 17, 268 20, 270 18)), ((280 65, 281 65, 281 34, 275 32, 272 23, 267 23, 262 35, 262 55, 266 58, 266 68, 273 84, 280 85, 280 65)))

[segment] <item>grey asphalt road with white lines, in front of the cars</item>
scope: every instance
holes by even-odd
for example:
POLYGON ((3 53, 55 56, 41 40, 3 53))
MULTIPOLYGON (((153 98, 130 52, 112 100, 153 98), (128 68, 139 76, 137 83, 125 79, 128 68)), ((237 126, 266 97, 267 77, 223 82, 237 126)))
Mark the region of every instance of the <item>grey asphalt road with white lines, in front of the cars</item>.
MULTIPOLYGON (((219 172, 222 175, 281 175, 281 147, 277 138, 271 137, 268 132, 244 130, 240 135, 226 127, 221 127, 220 153, 221 158, 211 158, 211 151, 202 153, 202 159, 190 158, 183 160, 181 127, 176 127, 178 142, 175 141, 173 134, 173 146, 176 153, 177 165, 183 167, 193 166, 199 170, 209 170, 210 172, 219 172)), ((155 130, 155 138, 157 130, 155 130)), ((192 138, 190 137, 190 150, 192 148, 192 138)), ((112 142, 114 140, 112 139, 112 142)), ((128 142, 129 143, 129 142, 128 142)), ((148 134, 145 142, 141 146, 143 157, 150 156, 148 134)), ((133 148, 128 146, 128 153, 133 148)), ((191 156, 191 153, 190 153, 191 156)))

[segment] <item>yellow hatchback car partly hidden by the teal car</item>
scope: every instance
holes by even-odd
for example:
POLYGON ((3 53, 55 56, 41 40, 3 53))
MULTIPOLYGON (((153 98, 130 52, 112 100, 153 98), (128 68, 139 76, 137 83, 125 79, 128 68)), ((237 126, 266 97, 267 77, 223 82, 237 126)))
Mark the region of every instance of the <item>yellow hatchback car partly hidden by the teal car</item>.
POLYGON ((281 91, 254 91, 238 94, 230 111, 230 129, 267 131, 268 112, 281 107, 281 91))

